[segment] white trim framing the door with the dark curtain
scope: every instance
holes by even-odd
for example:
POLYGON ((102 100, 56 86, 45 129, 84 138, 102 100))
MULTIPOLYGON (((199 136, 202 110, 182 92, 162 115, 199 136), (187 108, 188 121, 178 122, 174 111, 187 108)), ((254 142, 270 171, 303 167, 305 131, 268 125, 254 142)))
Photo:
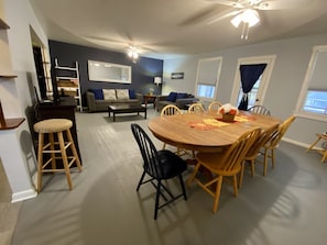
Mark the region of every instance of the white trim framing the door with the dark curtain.
POLYGON ((238 59, 238 65, 235 74, 233 79, 233 87, 231 90, 230 101, 233 103, 237 103, 238 96, 239 96, 239 82, 241 80, 240 78, 240 70, 239 67, 241 65, 252 65, 252 64, 266 64, 266 69, 264 70, 264 80, 263 87, 262 87, 262 100, 260 103, 263 103, 264 97, 266 93, 266 89, 270 82, 271 74, 275 64, 276 55, 265 55, 265 56, 254 56, 254 57, 244 57, 238 59))

